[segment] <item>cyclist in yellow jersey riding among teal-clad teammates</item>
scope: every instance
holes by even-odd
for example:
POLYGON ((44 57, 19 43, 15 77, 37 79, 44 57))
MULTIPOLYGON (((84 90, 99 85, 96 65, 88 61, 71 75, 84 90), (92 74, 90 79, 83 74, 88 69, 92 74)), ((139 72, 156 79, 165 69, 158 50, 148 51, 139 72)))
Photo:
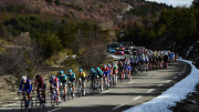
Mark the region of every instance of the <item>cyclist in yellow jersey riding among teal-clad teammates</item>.
POLYGON ((77 74, 77 79, 78 79, 78 88, 81 86, 81 81, 83 83, 83 95, 85 95, 85 72, 83 72, 82 69, 78 70, 80 73, 77 74))

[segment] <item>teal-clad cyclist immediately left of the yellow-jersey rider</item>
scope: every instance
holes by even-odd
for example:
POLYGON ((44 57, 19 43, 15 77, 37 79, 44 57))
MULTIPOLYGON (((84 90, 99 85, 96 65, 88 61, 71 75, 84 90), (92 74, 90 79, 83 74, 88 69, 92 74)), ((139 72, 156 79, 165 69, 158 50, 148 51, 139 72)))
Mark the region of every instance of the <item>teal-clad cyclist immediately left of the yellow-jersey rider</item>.
POLYGON ((69 81, 73 83, 73 96, 75 96, 75 86, 74 86, 74 84, 75 84, 75 73, 70 69, 66 77, 67 77, 69 81))

